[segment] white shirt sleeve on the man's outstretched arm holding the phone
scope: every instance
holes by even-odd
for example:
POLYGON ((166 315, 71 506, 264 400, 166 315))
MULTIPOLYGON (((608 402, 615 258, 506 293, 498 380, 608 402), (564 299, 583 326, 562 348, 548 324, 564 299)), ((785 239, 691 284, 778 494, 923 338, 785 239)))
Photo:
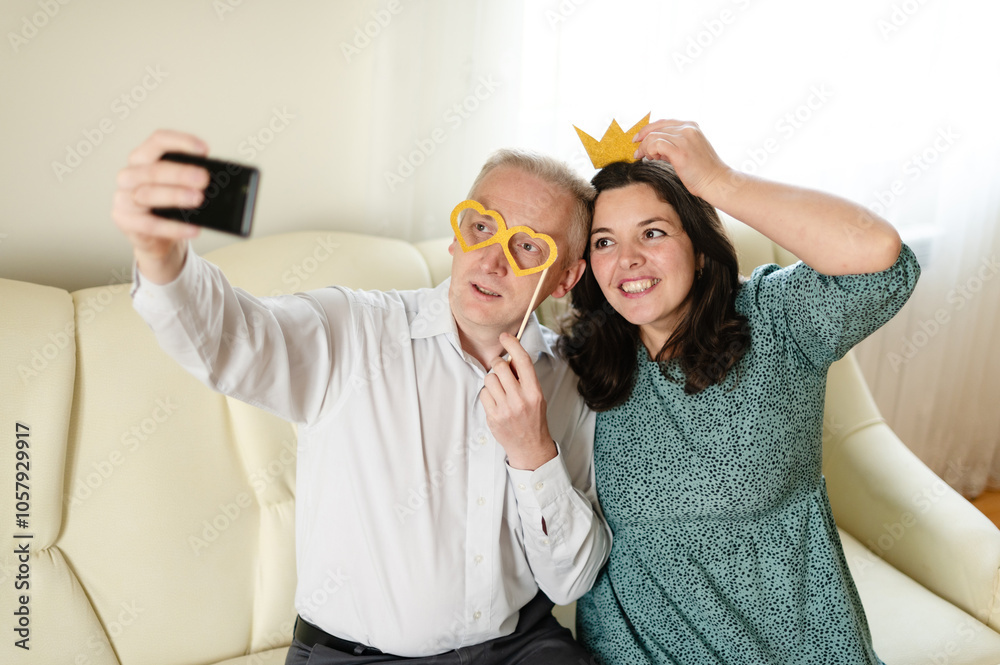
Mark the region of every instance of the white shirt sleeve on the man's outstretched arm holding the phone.
MULTIPOLYGON (((279 417, 314 420, 343 387, 333 369, 351 362, 344 345, 353 317, 339 289, 256 298, 233 288, 189 246, 169 284, 144 280, 136 267, 132 302, 160 346, 192 375, 279 417)), ((338 370, 350 374, 349 367, 338 370)))

